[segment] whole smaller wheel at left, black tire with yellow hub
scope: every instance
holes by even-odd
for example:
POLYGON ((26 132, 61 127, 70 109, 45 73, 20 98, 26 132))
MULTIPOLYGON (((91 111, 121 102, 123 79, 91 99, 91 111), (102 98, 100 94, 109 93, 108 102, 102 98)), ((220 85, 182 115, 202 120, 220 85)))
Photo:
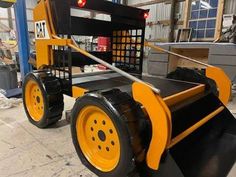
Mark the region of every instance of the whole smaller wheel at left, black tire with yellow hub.
POLYGON ((64 108, 60 82, 44 72, 29 73, 23 84, 23 104, 29 121, 37 127, 56 123, 64 108))

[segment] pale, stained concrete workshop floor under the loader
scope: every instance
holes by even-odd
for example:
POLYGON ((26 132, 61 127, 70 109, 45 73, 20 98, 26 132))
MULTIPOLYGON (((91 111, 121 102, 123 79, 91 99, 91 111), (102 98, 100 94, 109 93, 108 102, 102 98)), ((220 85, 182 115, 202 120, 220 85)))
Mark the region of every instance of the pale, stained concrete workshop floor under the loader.
MULTIPOLYGON (((74 99, 65 97, 65 110, 74 99)), ((230 104, 236 109, 236 99, 230 104)), ((49 129, 31 125, 22 105, 0 113, 0 177, 95 177, 80 162, 63 119, 49 129)), ((236 165, 229 177, 236 176, 236 165)))

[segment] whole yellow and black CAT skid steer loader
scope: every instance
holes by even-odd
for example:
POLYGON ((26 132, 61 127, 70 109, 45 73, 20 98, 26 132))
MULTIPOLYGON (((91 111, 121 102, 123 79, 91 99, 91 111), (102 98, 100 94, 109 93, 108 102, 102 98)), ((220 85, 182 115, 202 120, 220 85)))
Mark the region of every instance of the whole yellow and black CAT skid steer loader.
POLYGON ((184 56, 204 70, 143 76, 144 45, 169 52, 145 44, 147 16, 148 10, 103 0, 39 1, 38 70, 23 84, 28 119, 46 128, 61 119, 63 94, 77 98, 72 140, 98 176, 226 177, 236 159, 236 120, 226 108, 231 82, 220 68, 184 56), (76 10, 109 18, 85 18, 76 10), (111 50, 85 51, 74 36, 109 37, 111 50), (109 70, 72 73, 72 66, 96 63, 109 70))

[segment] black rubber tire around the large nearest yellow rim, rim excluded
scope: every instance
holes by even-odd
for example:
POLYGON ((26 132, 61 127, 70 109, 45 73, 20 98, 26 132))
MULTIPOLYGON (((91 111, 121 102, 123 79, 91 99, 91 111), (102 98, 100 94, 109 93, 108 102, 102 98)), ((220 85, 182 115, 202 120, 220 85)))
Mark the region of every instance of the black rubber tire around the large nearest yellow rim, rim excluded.
POLYGON ((82 163, 101 177, 126 177, 133 173, 137 158, 140 158, 144 153, 138 122, 140 111, 142 111, 140 106, 127 93, 117 89, 102 93, 90 93, 79 98, 72 109, 71 133, 76 152, 82 163), (90 164, 82 153, 77 139, 76 121, 80 111, 88 105, 102 109, 111 118, 118 132, 121 144, 120 160, 115 169, 110 172, 104 173, 90 164))

